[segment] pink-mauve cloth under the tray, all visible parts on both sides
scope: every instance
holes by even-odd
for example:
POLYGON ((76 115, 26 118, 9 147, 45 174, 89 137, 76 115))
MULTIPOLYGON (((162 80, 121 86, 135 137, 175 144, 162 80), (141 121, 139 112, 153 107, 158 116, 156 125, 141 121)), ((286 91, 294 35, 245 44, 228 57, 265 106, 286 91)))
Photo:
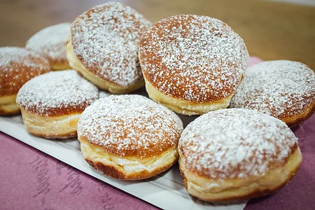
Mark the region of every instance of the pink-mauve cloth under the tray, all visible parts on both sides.
MULTIPOLYGON (((315 209, 315 115, 293 131, 303 154, 300 170, 246 210, 315 209)), ((1 132, 0 154, 0 209, 156 209, 1 132)))

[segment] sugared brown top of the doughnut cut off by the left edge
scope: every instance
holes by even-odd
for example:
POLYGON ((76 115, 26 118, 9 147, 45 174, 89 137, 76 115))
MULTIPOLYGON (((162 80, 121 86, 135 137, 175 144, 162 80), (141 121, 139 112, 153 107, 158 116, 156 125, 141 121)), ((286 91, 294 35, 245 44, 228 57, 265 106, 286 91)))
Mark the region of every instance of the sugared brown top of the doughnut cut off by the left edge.
POLYGON ((17 94, 28 80, 49 71, 46 59, 25 48, 0 48, 0 96, 17 94))

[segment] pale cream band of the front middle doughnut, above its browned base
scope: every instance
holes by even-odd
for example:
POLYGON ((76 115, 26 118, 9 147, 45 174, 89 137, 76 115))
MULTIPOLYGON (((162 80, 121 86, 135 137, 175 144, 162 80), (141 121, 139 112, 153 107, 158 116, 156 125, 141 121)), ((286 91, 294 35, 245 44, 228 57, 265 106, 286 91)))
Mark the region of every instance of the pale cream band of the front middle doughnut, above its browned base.
POLYGON ((154 172, 156 169, 163 168, 167 165, 172 165, 179 157, 177 149, 170 149, 161 155, 150 158, 135 158, 135 157, 119 157, 105 151, 102 146, 90 144, 85 138, 78 138, 80 141, 81 152, 86 160, 92 162, 100 162, 103 165, 115 167, 125 176, 134 176, 141 172, 154 172))

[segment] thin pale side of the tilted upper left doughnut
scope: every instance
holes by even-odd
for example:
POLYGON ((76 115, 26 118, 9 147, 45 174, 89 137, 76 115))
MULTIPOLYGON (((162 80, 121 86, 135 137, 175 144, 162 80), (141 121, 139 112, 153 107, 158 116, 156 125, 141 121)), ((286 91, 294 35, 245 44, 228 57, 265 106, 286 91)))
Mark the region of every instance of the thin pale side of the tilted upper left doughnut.
POLYGON ((72 44, 71 44, 71 36, 69 37, 68 43, 66 43, 66 58, 69 61, 69 65, 78 71, 84 78, 89 80, 97 87, 102 88, 105 91, 111 92, 113 94, 125 94, 127 92, 132 92, 133 90, 137 90, 139 87, 144 85, 144 81, 141 80, 138 83, 134 83, 128 87, 123 87, 117 85, 115 83, 111 83, 109 80, 105 80, 103 78, 99 78, 91 73, 85 66, 80 62, 78 57, 76 57, 75 53, 73 52, 72 44))

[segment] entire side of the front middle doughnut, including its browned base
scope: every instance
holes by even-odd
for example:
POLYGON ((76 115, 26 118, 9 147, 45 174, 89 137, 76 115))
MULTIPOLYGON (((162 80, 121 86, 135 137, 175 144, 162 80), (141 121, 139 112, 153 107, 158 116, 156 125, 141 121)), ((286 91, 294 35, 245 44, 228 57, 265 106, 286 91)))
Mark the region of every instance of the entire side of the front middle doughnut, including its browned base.
POLYGON ((78 140, 86 162, 102 174, 116 179, 128 181, 148 179, 165 172, 179 158, 176 147, 163 151, 160 155, 141 159, 107 153, 102 146, 91 144, 85 137, 79 136, 78 140))

